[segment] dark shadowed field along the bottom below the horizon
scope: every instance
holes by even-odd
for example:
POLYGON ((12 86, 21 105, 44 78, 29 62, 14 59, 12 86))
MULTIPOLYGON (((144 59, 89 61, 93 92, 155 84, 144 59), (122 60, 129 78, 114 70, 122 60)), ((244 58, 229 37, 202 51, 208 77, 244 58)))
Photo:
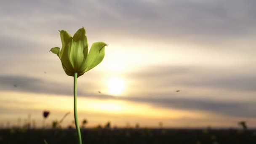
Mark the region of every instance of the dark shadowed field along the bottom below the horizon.
MULTIPOLYGON (((82 129, 83 144, 256 144, 256 130, 82 129)), ((2 129, 0 144, 77 144, 75 129, 2 129)))

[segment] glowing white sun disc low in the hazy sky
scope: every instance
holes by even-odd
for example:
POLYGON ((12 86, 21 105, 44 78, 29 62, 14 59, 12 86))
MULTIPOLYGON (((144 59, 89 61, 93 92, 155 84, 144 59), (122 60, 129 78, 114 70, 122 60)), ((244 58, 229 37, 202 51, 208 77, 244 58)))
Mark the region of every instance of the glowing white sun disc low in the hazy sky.
POLYGON ((120 95, 125 88, 125 81, 120 77, 112 77, 108 80, 109 93, 113 95, 120 95))

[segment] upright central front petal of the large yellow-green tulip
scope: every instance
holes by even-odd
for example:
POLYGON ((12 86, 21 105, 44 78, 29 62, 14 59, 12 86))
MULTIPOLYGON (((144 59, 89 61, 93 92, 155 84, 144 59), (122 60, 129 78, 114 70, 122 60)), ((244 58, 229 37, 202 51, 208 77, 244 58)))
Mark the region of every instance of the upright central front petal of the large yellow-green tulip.
POLYGON ((72 41, 70 51, 70 62, 74 67, 75 72, 80 71, 80 67, 85 62, 88 53, 88 42, 85 35, 85 29, 78 29, 72 41))

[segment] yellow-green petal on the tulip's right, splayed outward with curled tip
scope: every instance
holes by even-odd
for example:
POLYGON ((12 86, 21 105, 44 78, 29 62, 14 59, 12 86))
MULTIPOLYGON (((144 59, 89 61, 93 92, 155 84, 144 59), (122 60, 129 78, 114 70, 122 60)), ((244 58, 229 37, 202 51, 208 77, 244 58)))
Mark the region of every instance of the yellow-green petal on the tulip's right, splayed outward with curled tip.
POLYGON ((83 70, 83 72, 87 72, 88 70, 96 67, 99 63, 101 63, 105 56, 106 45, 107 44, 104 42, 96 42, 92 44, 87 59, 85 60, 85 70, 83 70))

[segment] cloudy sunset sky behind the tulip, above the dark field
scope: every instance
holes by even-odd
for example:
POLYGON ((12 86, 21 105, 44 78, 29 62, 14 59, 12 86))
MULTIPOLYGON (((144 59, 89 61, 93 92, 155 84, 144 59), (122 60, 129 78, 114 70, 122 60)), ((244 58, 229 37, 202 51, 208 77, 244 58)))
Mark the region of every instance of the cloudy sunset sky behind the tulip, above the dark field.
POLYGON ((49 52, 84 27, 104 60, 78 78, 88 127, 256 127, 255 0, 1 0, 0 127, 73 121, 73 77, 49 52), (180 90, 179 92, 176 92, 180 90), (100 93, 99 93, 100 91, 100 93))

